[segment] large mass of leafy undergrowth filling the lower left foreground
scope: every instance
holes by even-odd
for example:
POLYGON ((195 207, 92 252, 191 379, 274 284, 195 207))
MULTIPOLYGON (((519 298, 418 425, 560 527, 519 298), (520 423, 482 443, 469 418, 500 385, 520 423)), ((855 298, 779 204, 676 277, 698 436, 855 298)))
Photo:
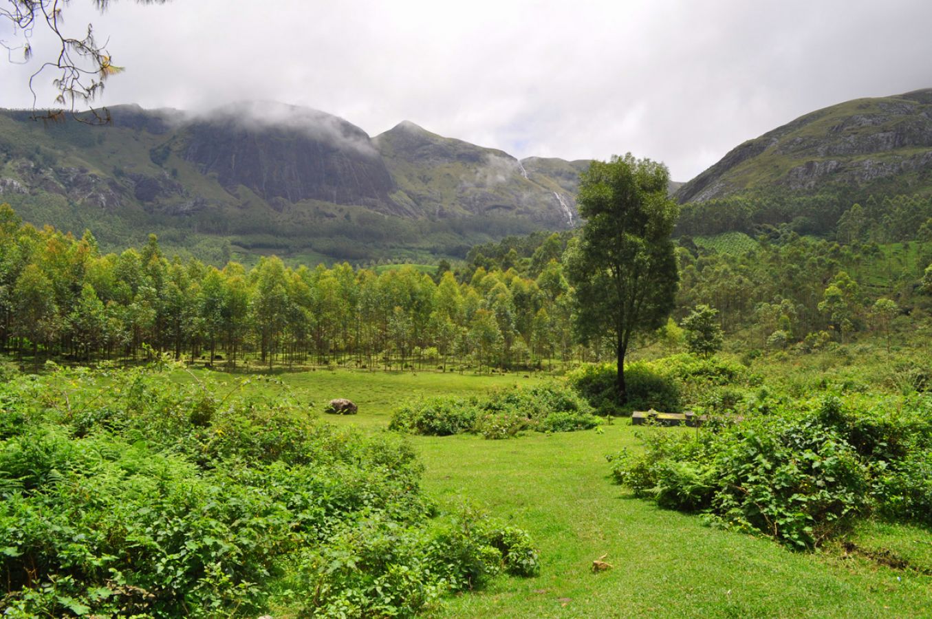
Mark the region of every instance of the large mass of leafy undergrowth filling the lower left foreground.
POLYGON ((439 513, 403 440, 310 419, 286 393, 167 367, 6 378, 7 616, 406 616, 538 569, 522 530, 439 513))

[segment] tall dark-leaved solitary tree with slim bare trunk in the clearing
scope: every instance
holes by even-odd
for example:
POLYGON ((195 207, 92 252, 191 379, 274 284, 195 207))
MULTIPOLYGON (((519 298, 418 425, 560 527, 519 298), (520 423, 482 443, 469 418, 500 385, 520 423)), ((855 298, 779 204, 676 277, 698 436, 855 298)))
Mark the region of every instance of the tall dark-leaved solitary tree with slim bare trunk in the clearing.
POLYGON ((577 204, 585 224, 567 254, 574 326, 583 344, 605 336, 613 341, 621 404, 627 401, 624 357, 632 337, 664 324, 677 292, 670 234, 679 209, 667 198, 668 181, 663 163, 630 153, 593 161, 580 177, 577 204))

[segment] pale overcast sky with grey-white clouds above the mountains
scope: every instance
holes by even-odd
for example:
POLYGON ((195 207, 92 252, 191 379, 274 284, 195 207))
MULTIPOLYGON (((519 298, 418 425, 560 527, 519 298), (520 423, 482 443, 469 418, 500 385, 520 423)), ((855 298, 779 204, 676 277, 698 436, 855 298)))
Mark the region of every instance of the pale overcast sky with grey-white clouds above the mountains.
MULTIPOLYGON (((103 15, 73 0, 65 11, 72 34, 93 21, 127 67, 104 104, 274 100, 370 135, 408 119, 519 158, 631 151, 680 181, 814 109, 932 88, 929 0, 120 0, 103 15)), ((6 23, 0 39, 12 40, 6 23)), ((0 106, 32 104, 44 43, 34 35, 30 65, 0 62, 0 106)))

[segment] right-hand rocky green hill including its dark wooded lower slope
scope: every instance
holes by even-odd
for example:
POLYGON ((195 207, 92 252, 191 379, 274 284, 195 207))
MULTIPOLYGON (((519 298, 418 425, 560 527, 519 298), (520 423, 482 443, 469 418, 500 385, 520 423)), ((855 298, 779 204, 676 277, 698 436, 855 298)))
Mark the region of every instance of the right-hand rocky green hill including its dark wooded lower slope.
POLYGON ((675 198, 679 234, 917 238, 932 217, 932 89, 797 118, 735 147, 675 198))

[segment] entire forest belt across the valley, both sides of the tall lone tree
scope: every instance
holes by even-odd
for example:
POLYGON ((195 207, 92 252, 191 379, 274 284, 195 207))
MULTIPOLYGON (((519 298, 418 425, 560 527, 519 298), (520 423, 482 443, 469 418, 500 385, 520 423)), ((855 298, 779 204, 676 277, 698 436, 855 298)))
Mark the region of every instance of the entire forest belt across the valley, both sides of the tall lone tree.
MULTIPOLYGON (((737 251, 680 237, 676 320, 639 346, 675 343, 676 322, 699 305, 718 310, 721 328, 744 338, 747 351, 812 351, 919 321, 929 307, 932 246, 928 226, 916 225, 916 200, 855 204, 838 225, 846 242, 791 226, 737 251), (912 219, 892 227, 902 213, 912 219), (877 229, 902 232, 878 242, 870 234, 877 229)), ((289 268, 274 256, 253 268, 216 268, 163 254, 154 235, 144 247, 102 254, 90 231, 78 239, 37 229, 0 206, 0 348, 35 364, 162 351, 230 367, 490 370, 599 361, 610 358, 609 343, 583 347, 572 333, 562 256, 574 242, 571 232, 508 237, 429 272, 289 268)))

